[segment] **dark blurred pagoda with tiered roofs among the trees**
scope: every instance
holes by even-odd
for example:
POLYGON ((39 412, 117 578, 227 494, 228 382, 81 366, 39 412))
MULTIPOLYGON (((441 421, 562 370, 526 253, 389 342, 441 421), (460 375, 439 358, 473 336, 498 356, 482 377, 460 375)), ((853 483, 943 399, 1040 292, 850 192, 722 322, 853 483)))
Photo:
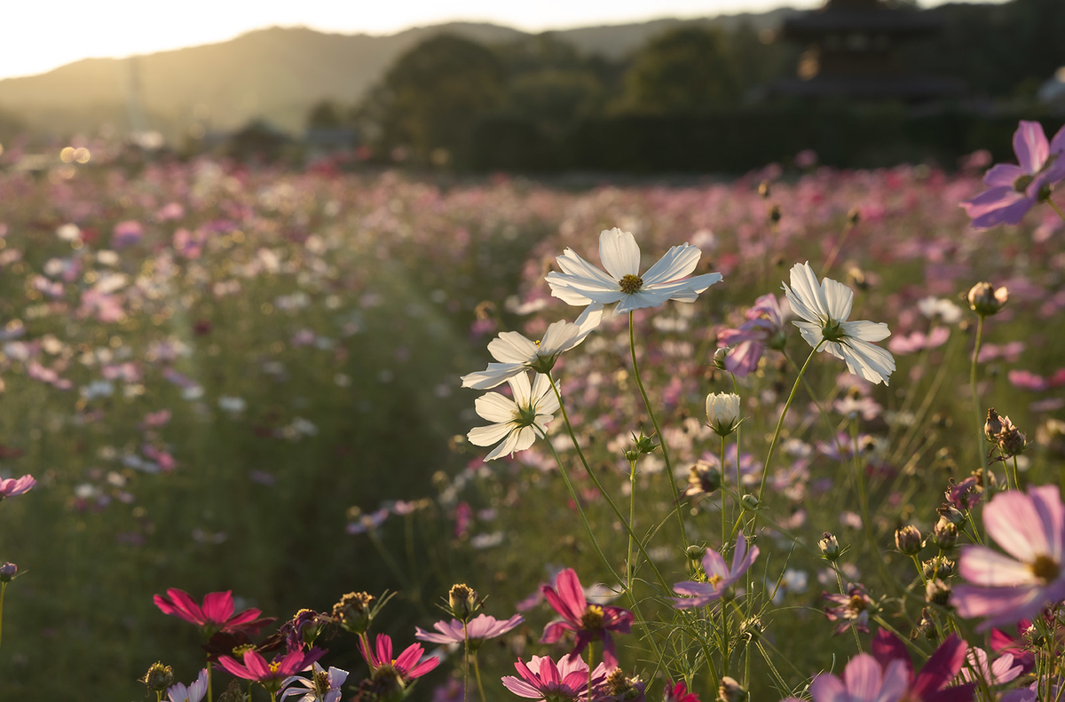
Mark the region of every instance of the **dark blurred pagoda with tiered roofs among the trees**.
POLYGON ((925 102, 956 97, 958 81, 907 72, 896 50, 933 38, 943 21, 884 0, 828 0, 820 10, 785 20, 781 38, 806 46, 798 78, 776 81, 770 93, 806 98, 925 102))

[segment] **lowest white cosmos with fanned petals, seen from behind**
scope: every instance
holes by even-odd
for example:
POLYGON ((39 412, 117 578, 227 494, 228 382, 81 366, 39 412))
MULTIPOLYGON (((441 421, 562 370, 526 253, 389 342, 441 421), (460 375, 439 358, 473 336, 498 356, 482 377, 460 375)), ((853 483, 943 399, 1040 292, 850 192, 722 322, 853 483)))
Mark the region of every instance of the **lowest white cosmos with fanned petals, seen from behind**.
POLYGON ((547 376, 538 373, 531 387, 526 373, 507 378, 507 382, 513 391, 513 399, 497 392, 489 392, 474 403, 477 413, 494 424, 470 429, 466 435, 470 443, 490 446, 499 442, 485 457, 486 461, 504 454, 513 455, 515 451, 525 451, 531 446, 537 434, 545 430, 547 422, 558 410, 558 399, 551 389, 547 376))

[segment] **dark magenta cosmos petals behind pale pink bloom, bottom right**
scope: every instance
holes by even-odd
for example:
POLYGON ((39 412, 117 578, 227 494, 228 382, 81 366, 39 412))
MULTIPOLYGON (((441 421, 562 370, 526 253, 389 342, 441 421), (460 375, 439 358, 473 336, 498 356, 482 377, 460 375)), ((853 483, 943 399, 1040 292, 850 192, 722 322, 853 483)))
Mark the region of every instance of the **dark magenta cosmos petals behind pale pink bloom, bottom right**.
POLYGON ((967 644, 951 634, 939 644, 924 667, 914 674, 910 653, 902 640, 885 630, 876 632, 872 639, 872 655, 881 668, 887 670, 894 660, 901 660, 906 668, 906 688, 903 699, 907 702, 970 702, 976 685, 967 683, 946 687, 965 665, 967 644))

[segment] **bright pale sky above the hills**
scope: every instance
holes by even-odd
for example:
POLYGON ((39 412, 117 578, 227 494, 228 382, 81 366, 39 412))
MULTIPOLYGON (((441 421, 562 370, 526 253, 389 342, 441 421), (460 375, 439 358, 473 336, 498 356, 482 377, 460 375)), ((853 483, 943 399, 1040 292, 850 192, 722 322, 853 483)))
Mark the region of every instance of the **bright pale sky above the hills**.
MULTIPOLYGON (((923 6, 946 0, 921 0, 923 6)), ((996 2, 1001 0, 969 0, 996 2)), ((33 0, 4 9, 0 79, 87 58, 128 56, 225 42, 265 27, 390 34, 449 20, 539 32, 659 17, 765 12, 822 0, 33 0)))

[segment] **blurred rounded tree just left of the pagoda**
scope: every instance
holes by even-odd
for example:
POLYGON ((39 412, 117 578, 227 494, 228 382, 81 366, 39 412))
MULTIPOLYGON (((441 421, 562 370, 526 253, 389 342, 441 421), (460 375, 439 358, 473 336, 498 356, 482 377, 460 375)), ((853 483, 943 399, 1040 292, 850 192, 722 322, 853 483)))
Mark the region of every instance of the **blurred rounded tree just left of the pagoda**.
POLYGON ((720 30, 684 26, 651 39, 625 76, 625 103, 637 111, 700 112, 734 102, 737 71, 720 30))

